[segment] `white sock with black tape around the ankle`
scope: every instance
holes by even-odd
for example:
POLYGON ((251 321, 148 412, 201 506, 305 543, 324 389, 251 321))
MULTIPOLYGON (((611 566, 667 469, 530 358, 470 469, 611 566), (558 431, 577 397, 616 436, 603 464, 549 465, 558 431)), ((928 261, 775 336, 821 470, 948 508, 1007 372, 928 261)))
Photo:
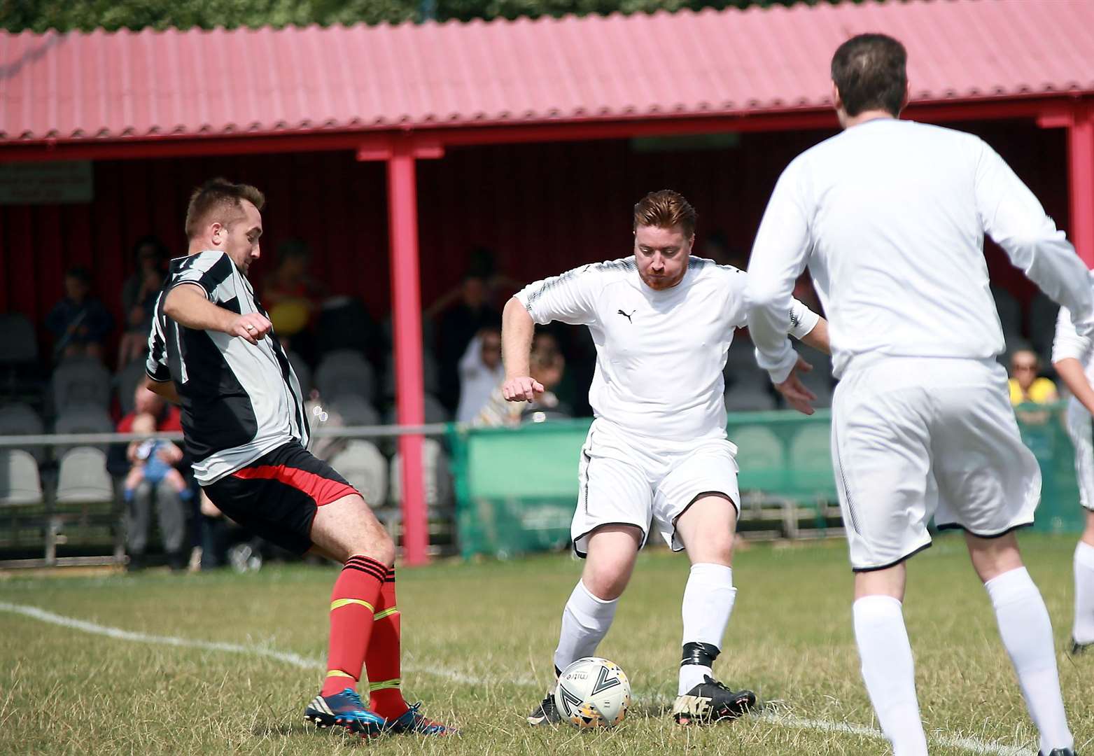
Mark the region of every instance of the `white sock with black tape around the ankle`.
MULTIPOLYGON (((722 648, 722 635, 733 612, 737 590, 733 588, 733 570, 724 565, 691 565, 684 588, 684 642, 709 643, 722 648)), ((702 683, 705 675, 714 676, 709 665, 680 664, 677 695, 683 696, 702 683)))

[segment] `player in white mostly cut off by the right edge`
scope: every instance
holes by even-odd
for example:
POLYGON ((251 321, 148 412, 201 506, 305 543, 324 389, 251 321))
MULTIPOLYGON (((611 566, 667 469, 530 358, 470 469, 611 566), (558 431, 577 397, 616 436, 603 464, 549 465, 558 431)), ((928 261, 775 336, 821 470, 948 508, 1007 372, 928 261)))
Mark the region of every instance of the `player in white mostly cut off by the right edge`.
POLYGON ((1086 527, 1075 547, 1075 617, 1071 654, 1094 650, 1094 344, 1080 336, 1067 307, 1060 307, 1052 340, 1052 367, 1071 391, 1068 435, 1075 447, 1079 502, 1086 510, 1086 527))

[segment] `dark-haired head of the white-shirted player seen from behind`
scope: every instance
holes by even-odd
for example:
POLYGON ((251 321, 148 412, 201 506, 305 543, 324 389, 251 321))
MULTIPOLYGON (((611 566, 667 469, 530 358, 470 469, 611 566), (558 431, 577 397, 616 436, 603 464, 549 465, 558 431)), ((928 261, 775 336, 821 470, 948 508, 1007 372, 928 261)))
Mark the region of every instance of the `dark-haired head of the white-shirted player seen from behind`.
POLYGON ((886 34, 859 34, 836 49, 831 80, 847 115, 886 111, 900 115, 908 89, 908 51, 886 34))

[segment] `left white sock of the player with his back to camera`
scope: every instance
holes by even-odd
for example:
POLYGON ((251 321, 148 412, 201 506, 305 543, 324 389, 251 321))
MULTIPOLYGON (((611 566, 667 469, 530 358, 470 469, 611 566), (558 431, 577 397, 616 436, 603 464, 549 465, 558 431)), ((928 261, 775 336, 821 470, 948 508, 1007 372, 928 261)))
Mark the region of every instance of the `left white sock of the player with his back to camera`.
POLYGON ((900 602, 863 596, 854 602, 854 640, 862 679, 896 756, 926 756, 927 736, 916 698, 916 665, 900 602))

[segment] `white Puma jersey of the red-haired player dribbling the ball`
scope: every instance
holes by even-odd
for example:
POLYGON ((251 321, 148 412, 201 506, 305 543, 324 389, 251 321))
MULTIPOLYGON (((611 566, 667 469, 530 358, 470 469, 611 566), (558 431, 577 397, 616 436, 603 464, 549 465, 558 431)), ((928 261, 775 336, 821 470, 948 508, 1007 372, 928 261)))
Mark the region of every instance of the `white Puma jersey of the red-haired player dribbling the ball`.
MULTIPOLYGON (((586 325, 596 345, 589 404, 627 432, 666 441, 725 438, 722 369, 734 328, 747 325, 737 268, 691 257, 664 291, 642 282, 633 257, 595 263, 529 283, 516 294, 532 319, 586 325)), ((788 333, 819 316, 793 300, 788 333)))

